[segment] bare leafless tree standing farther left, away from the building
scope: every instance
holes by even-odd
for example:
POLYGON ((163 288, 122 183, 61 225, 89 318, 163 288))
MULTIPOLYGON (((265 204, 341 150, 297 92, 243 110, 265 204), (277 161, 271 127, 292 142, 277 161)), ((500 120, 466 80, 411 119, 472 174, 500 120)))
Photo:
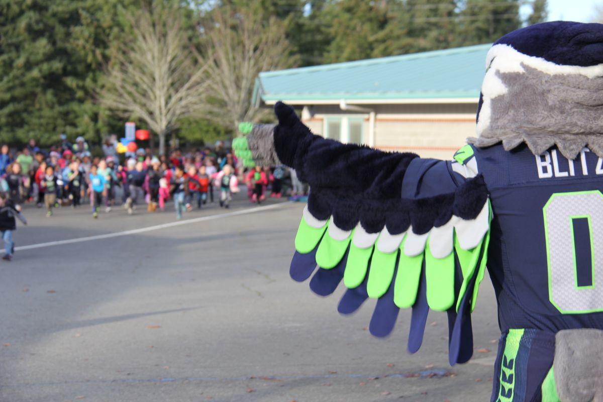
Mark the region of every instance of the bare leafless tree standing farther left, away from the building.
POLYGON ((159 153, 165 153, 165 136, 178 119, 206 109, 208 62, 188 45, 183 16, 176 7, 156 2, 154 7, 128 16, 132 36, 118 48, 107 68, 103 104, 144 120, 159 136, 159 153))

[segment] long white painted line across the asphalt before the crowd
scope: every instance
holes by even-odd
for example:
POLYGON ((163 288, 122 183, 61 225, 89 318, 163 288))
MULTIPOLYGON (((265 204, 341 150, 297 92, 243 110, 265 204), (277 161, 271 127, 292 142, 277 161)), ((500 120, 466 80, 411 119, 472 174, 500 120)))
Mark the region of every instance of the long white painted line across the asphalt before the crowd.
MULTIPOLYGON (((213 219, 229 218, 230 216, 246 215, 248 213, 253 213, 253 212, 262 212, 262 211, 269 210, 269 209, 280 208, 284 205, 288 205, 288 204, 292 204, 292 203, 293 203, 293 201, 285 201, 284 203, 273 204, 273 205, 265 206, 265 207, 253 207, 253 208, 247 208, 247 209, 243 209, 243 210, 239 210, 239 211, 217 213, 216 215, 201 216, 200 218, 186 219, 183 221, 176 221, 176 222, 169 222, 167 224, 148 226, 148 227, 139 228, 139 229, 118 231, 115 233, 97 234, 95 236, 78 237, 77 239, 66 239, 66 240, 57 240, 54 242, 30 244, 27 246, 15 247, 14 251, 31 250, 33 248, 60 246, 63 244, 71 244, 71 243, 90 242, 92 240, 110 239, 111 237, 128 236, 128 234, 145 233, 147 231, 165 229, 165 228, 170 228, 170 227, 175 227, 175 226, 180 226, 180 225, 188 225, 188 224, 196 224, 198 222, 212 221, 213 219)), ((0 250, 0 253, 4 253, 4 251, 5 250, 0 250)))

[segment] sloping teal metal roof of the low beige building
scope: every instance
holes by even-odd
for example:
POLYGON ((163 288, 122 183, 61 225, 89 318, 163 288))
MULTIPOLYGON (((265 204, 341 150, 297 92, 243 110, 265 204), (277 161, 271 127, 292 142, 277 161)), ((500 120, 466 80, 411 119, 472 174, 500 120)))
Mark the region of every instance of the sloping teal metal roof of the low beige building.
POLYGON ((478 98, 491 44, 262 72, 253 99, 478 98))

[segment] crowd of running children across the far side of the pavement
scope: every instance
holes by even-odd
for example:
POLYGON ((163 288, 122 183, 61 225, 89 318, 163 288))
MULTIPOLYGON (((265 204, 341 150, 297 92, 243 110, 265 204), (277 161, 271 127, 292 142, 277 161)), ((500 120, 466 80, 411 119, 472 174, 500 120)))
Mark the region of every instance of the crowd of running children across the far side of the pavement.
MULTIPOLYGON (((98 218, 102 207, 109 213, 121 204, 131 215, 144 205, 148 212, 157 212, 165 210, 171 199, 176 218, 182 219, 186 211, 201 209, 214 198, 220 207, 229 208, 232 195, 239 192, 239 178, 247 184, 252 203, 264 201, 270 187, 271 196, 279 198, 295 187, 288 181, 295 178, 293 171, 258 166, 244 172, 236 157, 222 149, 197 149, 186 155, 177 149, 169 157, 138 149, 120 163, 118 155, 105 148, 104 157, 93 157, 83 139, 71 145, 63 137, 48 152, 34 140, 14 154, 7 145, 0 148, 0 232, 5 259, 13 254, 15 218, 26 222, 21 206, 27 203, 44 207, 48 217, 57 207, 89 205, 93 218, 98 218)), ((297 189, 291 195, 306 191, 297 189)))

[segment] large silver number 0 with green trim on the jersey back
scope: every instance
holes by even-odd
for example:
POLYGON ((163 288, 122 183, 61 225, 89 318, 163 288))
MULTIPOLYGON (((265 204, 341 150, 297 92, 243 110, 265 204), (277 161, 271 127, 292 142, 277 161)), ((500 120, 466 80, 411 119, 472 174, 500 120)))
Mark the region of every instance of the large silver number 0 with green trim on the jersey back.
POLYGON ((603 194, 554 193, 543 215, 549 300, 563 314, 603 311, 603 194))

